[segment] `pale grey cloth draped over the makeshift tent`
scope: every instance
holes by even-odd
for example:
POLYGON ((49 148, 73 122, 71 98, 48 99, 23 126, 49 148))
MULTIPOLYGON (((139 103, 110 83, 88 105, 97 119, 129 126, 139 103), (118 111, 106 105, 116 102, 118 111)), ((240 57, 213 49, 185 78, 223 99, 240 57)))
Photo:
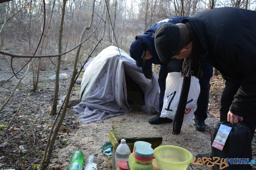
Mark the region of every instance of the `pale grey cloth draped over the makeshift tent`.
POLYGON ((73 107, 82 123, 103 120, 128 113, 132 110, 127 102, 125 72, 144 92, 148 114, 158 114, 159 85, 154 79, 145 78, 142 69, 136 66, 126 52, 115 46, 102 50, 84 71, 79 97, 81 102, 73 107))

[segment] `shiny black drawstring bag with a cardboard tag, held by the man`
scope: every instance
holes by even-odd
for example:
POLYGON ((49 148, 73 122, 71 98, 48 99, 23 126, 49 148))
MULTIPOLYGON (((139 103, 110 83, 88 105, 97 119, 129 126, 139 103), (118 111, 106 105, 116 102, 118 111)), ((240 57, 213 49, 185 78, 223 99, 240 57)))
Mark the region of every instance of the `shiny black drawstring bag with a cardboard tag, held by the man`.
MULTIPOLYGON (((249 128, 240 121, 236 124, 230 123, 228 121, 219 122, 212 129, 212 143, 221 124, 229 126, 232 129, 228 135, 227 141, 222 151, 215 147, 212 147, 212 158, 214 159, 214 157, 219 157, 219 164, 221 164, 222 158, 222 162, 224 161, 224 159, 227 158, 229 159, 229 162, 228 166, 225 168, 223 167, 226 165, 222 163, 222 165, 214 164, 214 166, 212 166, 212 169, 217 170, 223 168, 224 170, 251 170, 252 166, 250 164, 243 164, 248 163, 248 161, 251 162, 252 160, 252 140, 249 128)), ((216 160, 217 159, 214 159, 214 161, 216 160)))

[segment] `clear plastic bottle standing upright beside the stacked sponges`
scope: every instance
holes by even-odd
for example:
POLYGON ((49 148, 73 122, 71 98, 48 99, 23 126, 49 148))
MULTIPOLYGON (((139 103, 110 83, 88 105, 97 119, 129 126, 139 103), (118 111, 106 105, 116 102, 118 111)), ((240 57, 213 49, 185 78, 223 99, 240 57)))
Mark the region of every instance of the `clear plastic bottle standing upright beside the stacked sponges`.
POLYGON ((129 146, 126 144, 126 140, 122 139, 121 144, 116 148, 115 160, 116 160, 116 170, 118 169, 118 162, 120 160, 127 160, 131 154, 129 146))

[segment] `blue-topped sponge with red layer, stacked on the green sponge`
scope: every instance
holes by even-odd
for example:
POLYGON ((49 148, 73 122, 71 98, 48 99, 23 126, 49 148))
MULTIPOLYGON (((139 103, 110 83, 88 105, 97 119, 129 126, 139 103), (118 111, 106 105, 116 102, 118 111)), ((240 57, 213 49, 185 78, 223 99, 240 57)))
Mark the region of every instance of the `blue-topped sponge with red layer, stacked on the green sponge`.
POLYGON ((134 154, 134 161, 141 165, 150 164, 153 161, 154 150, 148 142, 135 142, 132 153, 134 154))

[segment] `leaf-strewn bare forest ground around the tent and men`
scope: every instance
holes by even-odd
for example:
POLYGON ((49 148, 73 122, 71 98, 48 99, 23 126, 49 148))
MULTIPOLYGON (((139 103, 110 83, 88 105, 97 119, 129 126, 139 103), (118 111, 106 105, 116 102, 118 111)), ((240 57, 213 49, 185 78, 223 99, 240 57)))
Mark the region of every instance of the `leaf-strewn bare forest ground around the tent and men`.
MULTIPOLYGON (((20 60, 13 61, 13 64, 15 70, 21 68, 20 60)), ((30 168, 31 165, 41 163, 48 135, 56 117, 49 115, 55 86, 55 81, 50 80, 50 77, 55 75, 56 68, 53 64, 43 64, 43 66, 44 69, 40 70, 36 91, 31 91, 33 87, 31 83, 32 70, 29 69, 15 90, 13 97, 0 113, 0 169, 32 169, 30 168)), ((157 73, 157 66, 154 68, 157 73)), ((62 65, 60 73, 67 73, 71 76, 72 70, 72 65, 62 65)), ((3 57, 0 62, 0 75, 0 84, 13 75, 8 58, 3 57)), ((19 77, 21 75, 22 73, 19 74, 19 77)), ((8 99, 17 82, 18 79, 14 77, 0 86, 0 107, 8 99)), ((69 83, 70 78, 60 81, 59 100, 66 95, 69 83)), ((149 124, 163 137, 162 145, 183 147, 194 157, 199 153, 210 153, 211 129, 220 120, 220 98, 224 87, 225 82, 220 75, 212 77, 208 118, 205 120, 206 129, 204 132, 195 129, 194 118, 190 125, 182 125, 179 135, 172 134, 172 123, 149 124)), ((73 91, 72 96, 76 97, 76 95, 77 92, 73 91)), ((148 123, 150 118, 156 116, 143 112, 140 105, 131 105, 131 107, 132 111, 127 114, 88 124, 81 123, 77 117, 78 114, 68 108, 54 144, 51 163, 47 169, 68 169, 72 153, 80 150, 84 153, 85 158, 89 155, 98 157, 98 170, 111 170, 112 158, 103 155, 101 147, 109 141, 108 132, 112 129, 112 124, 148 123)), ((255 151, 254 135, 252 158, 256 157, 255 151)), ((256 169, 256 166, 254 165, 253 168, 256 169)), ((187 169, 210 170, 212 168, 206 165, 190 164, 187 169)))

